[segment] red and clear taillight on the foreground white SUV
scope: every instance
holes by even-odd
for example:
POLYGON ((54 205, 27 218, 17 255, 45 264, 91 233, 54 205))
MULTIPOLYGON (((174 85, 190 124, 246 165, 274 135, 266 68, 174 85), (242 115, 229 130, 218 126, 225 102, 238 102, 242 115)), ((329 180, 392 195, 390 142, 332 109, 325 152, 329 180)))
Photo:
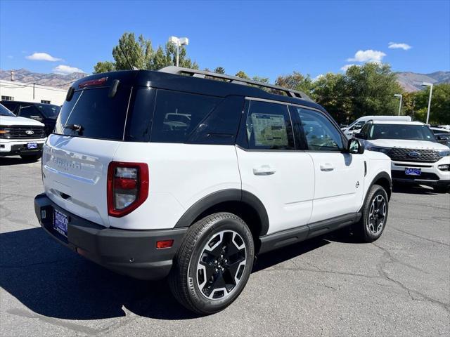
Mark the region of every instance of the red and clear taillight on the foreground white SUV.
POLYGON ((148 197, 145 163, 111 161, 108 166, 108 215, 121 217, 134 211, 148 197))

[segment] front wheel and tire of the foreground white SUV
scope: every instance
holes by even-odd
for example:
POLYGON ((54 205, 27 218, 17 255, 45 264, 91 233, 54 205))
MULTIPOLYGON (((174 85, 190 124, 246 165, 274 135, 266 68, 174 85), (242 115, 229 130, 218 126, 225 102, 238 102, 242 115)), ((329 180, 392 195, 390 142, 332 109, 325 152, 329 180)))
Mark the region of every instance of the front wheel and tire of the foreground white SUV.
POLYGON ((389 199, 380 185, 369 190, 362 209, 362 217, 354 226, 354 234, 361 242, 374 242, 385 230, 389 213, 389 199))

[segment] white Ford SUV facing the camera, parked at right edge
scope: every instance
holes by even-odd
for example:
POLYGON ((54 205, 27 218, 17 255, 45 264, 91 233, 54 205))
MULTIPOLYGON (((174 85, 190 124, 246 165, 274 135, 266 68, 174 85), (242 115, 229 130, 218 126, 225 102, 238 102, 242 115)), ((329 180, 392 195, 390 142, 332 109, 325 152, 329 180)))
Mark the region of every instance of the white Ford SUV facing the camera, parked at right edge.
POLYGON ((420 121, 369 121, 356 134, 366 150, 392 159, 392 180, 432 186, 437 192, 450 187, 450 149, 437 143, 420 121))

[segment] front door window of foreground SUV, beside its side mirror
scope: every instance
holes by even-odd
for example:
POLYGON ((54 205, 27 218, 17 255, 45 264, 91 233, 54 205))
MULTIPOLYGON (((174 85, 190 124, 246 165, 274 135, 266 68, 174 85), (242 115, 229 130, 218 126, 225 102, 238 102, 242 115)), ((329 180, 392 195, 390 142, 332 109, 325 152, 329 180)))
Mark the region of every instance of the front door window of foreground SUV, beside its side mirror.
POLYGON ((320 112, 294 107, 300 117, 308 150, 341 151, 344 148, 338 129, 320 112))

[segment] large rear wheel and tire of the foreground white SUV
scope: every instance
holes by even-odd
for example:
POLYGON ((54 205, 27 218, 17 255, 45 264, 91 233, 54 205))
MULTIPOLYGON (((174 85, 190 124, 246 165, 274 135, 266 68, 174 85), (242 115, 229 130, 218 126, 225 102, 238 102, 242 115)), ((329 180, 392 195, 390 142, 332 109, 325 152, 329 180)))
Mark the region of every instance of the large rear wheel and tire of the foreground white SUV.
POLYGON ((189 228, 174 258, 170 289, 188 310, 219 312, 243 291, 254 259, 252 233, 244 221, 231 213, 214 213, 189 228))

